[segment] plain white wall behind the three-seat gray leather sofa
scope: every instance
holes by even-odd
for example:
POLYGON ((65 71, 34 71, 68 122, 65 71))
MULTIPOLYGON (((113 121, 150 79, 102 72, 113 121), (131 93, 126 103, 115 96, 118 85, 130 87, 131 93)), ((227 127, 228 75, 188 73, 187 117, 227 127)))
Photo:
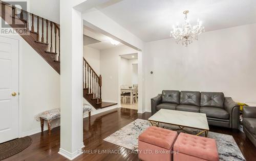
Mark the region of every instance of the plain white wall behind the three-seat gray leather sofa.
POLYGON ((188 47, 174 39, 146 43, 146 110, 162 90, 224 92, 256 102, 256 23, 206 32, 188 47), (153 71, 153 74, 150 74, 153 71))

